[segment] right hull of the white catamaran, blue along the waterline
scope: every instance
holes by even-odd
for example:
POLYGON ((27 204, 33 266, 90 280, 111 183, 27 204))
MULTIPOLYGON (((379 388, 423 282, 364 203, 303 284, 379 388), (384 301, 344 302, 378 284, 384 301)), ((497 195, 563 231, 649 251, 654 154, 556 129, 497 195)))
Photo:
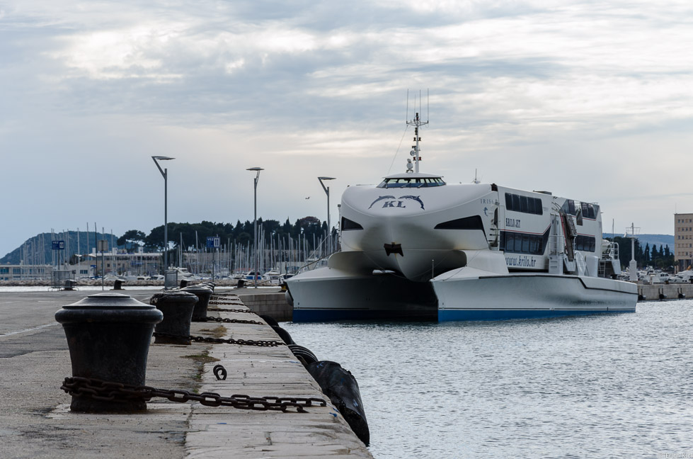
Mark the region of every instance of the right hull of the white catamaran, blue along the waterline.
POLYGON ((589 276, 512 273, 464 277, 445 273, 431 283, 440 322, 635 312, 638 300, 634 283, 589 276))

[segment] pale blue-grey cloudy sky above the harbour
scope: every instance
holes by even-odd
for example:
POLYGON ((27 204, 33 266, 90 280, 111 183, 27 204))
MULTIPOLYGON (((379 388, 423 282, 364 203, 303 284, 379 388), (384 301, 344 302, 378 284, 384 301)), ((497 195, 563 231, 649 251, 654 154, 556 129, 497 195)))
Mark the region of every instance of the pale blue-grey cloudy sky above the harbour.
POLYGON ((687 1, 0 0, 0 255, 86 222, 326 217, 404 170, 602 205, 605 229, 693 212, 687 1), (411 116, 411 105, 410 111, 411 116), (398 152, 399 149, 399 152, 398 152), (310 197, 310 199, 306 199, 310 197))

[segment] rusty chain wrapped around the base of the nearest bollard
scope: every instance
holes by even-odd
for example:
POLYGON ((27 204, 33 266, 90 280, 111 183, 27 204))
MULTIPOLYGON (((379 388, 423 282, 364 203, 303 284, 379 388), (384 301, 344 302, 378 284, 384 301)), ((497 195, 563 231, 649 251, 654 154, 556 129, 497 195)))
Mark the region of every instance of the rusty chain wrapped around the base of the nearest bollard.
POLYGON ((194 394, 187 390, 156 389, 150 386, 134 386, 122 384, 122 382, 109 382, 80 377, 65 378, 60 388, 73 397, 91 397, 103 402, 126 402, 132 399, 144 399, 149 402, 154 397, 160 397, 178 403, 193 400, 194 402, 200 402, 205 407, 224 406, 237 409, 281 412, 287 412, 287 409, 295 408, 296 412, 299 413, 307 413, 305 408, 312 407, 314 404, 320 407, 327 406, 325 400, 315 397, 250 397, 239 394, 222 397, 216 392, 194 394))

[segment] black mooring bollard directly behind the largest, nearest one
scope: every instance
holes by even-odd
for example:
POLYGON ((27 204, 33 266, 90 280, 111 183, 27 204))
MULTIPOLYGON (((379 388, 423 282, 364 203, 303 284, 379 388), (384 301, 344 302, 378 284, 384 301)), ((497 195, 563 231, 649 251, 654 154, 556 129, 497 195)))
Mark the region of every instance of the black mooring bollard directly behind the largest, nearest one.
POLYGON ((169 290, 156 293, 149 300, 150 305, 164 313, 164 320, 156 324, 157 333, 174 336, 156 336, 154 344, 190 344, 190 319, 197 297, 183 290, 169 290))

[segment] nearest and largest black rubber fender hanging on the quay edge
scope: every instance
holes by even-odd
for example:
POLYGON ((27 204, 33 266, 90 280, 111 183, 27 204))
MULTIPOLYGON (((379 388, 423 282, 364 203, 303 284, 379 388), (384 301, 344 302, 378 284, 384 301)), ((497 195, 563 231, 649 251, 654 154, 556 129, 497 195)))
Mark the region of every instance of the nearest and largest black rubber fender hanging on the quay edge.
POLYGON ((350 371, 342 368, 342 365, 331 361, 314 362, 308 365, 307 369, 325 395, 344 416, 351 430, 368 446, 370 432, 356 378, 350 371))

